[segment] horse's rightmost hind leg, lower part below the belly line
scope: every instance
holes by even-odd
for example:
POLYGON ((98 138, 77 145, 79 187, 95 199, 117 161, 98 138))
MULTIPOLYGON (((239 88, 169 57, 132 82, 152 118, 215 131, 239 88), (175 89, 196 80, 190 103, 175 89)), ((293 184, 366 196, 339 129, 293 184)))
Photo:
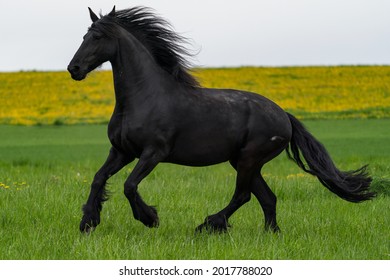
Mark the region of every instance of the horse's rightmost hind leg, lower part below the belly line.
POLYGON ((254 177, 251 191, 256 196, 263 209, 266 230, 272 230, 274 232, 280 231, 276 223, 276 196, 268 187, 261 174, 254 177))

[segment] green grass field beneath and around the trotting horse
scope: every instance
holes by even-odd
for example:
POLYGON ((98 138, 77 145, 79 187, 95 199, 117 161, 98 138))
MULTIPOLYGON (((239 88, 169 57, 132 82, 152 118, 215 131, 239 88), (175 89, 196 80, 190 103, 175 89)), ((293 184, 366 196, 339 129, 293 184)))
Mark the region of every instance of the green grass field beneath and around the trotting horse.
MULTIPOLYGON (((390 120, 306 121, 341 169, 363 164, 386 189, 390 120)), ((140 185, 160 227, 135 221, 123 195, 133 164, 110 179, 111 199, 95 232, 78 231, 81 205, 109 144, 105 125, 0 126, 0 259, 390 259, 390 196, 345 202, 282 154, 264 168, 278 197, 282 232, 263 230, 256 199, 226 234, 195 234, 234 190, 228 164, 161 164, 140 185)))

